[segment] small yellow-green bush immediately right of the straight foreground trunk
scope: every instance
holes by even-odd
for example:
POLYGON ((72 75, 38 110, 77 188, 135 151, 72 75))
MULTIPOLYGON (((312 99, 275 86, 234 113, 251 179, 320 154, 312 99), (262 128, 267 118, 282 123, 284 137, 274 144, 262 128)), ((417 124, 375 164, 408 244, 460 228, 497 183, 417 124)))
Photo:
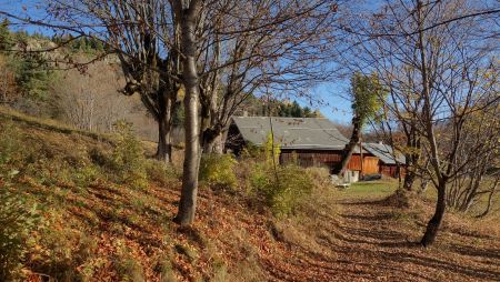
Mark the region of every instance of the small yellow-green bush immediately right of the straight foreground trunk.
POLYGON ((234 174, 237 163, 231 154, 203 155, 200 164, 200 180, 213 188, 234 189, 238 183, 234 174))

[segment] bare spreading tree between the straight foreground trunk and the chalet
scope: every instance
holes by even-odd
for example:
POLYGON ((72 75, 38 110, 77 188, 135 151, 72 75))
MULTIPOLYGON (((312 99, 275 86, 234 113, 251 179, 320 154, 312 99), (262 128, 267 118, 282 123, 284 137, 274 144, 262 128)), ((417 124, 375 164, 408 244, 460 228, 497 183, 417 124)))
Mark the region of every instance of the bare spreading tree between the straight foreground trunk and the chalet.
POLYGON ((336 9, 328 1, 217 2, 199 54, 203 152, 222 151, 231 115, 251 94, 300 94, 328 78, 322 51, 336 9))

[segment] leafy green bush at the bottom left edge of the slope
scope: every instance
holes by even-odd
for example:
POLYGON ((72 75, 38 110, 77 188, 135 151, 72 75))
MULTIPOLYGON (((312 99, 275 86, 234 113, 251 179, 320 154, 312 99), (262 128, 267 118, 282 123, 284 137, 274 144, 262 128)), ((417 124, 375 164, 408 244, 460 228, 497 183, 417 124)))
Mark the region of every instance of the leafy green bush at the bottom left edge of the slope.
POLYGON ((39 225, 36 204, 0 188, 0 281, 16 280, 27 252, 27 240, 39 225))

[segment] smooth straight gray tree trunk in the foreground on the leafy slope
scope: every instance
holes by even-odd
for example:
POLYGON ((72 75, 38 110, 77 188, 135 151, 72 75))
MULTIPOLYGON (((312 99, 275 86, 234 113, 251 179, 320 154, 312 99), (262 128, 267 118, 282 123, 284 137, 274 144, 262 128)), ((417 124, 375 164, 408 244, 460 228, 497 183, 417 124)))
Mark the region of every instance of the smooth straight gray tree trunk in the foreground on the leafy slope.
POLYGON ((186 88, 184 97, 184 163, 182 172, 182 190, 179 211, 174 219, 180 225, 189 225, 194 221, 198 194, 198 170, 200 167, 200 127, 198 117, 199 77, 196 61, 194 16, 197 8, 180 12, 181 50, 183 54, 182 80, 186 88))

